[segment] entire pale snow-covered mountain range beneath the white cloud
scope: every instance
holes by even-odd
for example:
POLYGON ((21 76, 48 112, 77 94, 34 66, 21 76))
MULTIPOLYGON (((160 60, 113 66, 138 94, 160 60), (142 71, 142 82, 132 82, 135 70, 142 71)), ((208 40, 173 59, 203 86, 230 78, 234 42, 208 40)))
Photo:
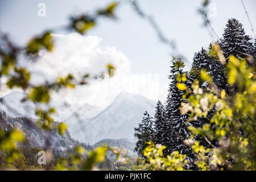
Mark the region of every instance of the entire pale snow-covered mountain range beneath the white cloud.
POLYGON ((144 111, 152 115, 155 110, 155 101, 127 92, 120 93, 104 110, 89 104, 75 110, 59 98, 52 98, 48 106, 35 105, 31 101, 21 102, 24 98, 25 93, 11 92, 0 98, 0 110, 10 117, 37 118, 37 107, 55 107, 57 114, 52 115, 53 119, 67 123, 72 138, 90 144, 106 138, 134 139, 134 127, 138 127, 144 111))

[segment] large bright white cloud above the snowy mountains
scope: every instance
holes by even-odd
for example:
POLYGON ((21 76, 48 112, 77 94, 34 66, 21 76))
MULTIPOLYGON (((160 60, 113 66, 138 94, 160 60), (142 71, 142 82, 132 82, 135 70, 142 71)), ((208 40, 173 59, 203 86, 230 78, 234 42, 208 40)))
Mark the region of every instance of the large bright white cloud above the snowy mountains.
POLYGON ((102 47, 97 36, 81 36, 77 33, 53 35, 53 52, 41 52, 40 59, 28 64, 20 59, 20 65, 26 65, 31 72, 31 83, 42 84, 53 81, 68 73, 89 73, 95 75, 106 72, 106 65, 112 64, 117 69, 115 76, 106 80, 92 80, 89 85, 77 86, 75 90, 64 89, 53 93, 70 104, 80 106, 85 103, 100 107, 108 106, 122 91, 141 94, 152 100, 159 98, 158 75, 131 74, 130 64, 122 52, 115 47, 102 47))

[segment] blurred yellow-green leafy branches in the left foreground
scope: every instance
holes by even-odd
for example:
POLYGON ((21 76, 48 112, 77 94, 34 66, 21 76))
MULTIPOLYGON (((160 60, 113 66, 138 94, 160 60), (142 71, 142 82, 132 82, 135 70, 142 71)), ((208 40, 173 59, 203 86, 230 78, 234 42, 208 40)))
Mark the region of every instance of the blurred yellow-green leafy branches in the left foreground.
MULTIPOLYGON (((80 34, 84 34, 87 30, 94 27, 97 18, 100 18, 101 16, 114 18, 114 10, 117 5, 117 2, 110 3, 110 5, 105 9, 96 11, 96 16, 94 16, 94 18, 91 18, 90 15, 81 15, 78 18, 73 17, 70 19, 71 23, 68 27, 80 34)), ((25 93, 27 93, 27 97, 24 98, 23 101, 31 100, 36 105, 48 105, 51 100, 52 92, 57 92, 63 88, 74 89, 76 85, 85 85, 88 83, 88 79, 90 78, 88 73, 78 77, 74 76, 76 73, 69 73, 67 76, 59 77, 53 82, 45 82, 42 85, 32 85, 30 82, 30 72, 26 68, 19 67, 19 56, 24 56, 25 59, 27 59, 26 61, 36 61, 36 59, 40 57, 40 52, 52 52, 54 50, 52 32, 46 31, 42 35, 35 36, 28 41, 26 47, 15 46, 6 34, 2 34, 2 32, 0 33, 0 77, 7 78, 5 84, 8 88, 21 88, 25 93)), ((106 65, 106 72, 110 77, 112 77, 115 73, 115 67, 111 64, 106 65)), ((35 113, 38 115, 39 126, 45 130, 51 130, 53 123, 51 114, 56 113, 55 109, 49 107, 46 110, 42 110, 38 107, 35 113)), ((56 129, 59 131, 60 135, 64 135, 67 125, 60 123, 56 126, 56 129)), ((22 151, 18 150, 18 142, 24 142, 24 140, 25 136, 17 129, 12 129, 10 131, 0 130, 0 150, 7 152, 8 162, 17 159, 19 154, 22 153, 22 151)), ((49 145, 49 142, 46 143, 49 145)), ((88 160, 89 162, 92 162, 92 165, 94 162, 102 160, 100 155, 105 153, 100 151, 100 149, 94 151, 96 152, 95 154, 91 152, 92 156, 89 156, 88 160), (92 161, 90 161, 90 159, 92 159, 92 161)), ((63 163, 65 163, 64 160, 63 163)), ((86 163, 84 165, 85 169, 91 169, 89 163, 89 167, 86 167, 86 163)), ((60 164, 58 165, 58 168, 59 167, 61 168, 60 164)))

